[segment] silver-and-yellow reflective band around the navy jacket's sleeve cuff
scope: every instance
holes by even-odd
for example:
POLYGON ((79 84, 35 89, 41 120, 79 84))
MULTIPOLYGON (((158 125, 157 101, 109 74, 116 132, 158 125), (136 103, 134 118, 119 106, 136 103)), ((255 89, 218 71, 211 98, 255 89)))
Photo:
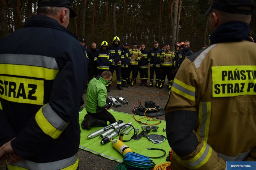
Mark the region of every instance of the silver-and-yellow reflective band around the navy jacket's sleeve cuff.
POLYGON ((57 139, 69 124, 62 120, 49 104, 45 104, 40 108, 35 115, 35 120, 41 130, 53 139, 57 139))

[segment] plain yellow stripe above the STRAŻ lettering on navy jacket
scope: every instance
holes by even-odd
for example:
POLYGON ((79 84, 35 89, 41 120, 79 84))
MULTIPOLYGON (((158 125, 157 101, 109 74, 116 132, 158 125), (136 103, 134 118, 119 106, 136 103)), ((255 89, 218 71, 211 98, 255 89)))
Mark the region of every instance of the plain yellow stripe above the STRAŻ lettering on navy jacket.
POLYGON ((0 74, 9 74, 15 76, 28 76, 46 80, 55 79, 59 70, 27 66, 27 65, 16 65, 16 64, 0 64, 0 74))

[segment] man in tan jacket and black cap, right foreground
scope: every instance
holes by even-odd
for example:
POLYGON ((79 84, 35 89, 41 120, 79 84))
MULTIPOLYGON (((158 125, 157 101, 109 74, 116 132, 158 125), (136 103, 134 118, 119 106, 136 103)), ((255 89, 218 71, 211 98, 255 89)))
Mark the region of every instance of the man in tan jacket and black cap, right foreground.
POLYGON ((215 0, 206 12, 212 45, 183 61, 165 109, 172 170, 256 160, 256 44, 247 41, 253 8, 252 0, 215 0))

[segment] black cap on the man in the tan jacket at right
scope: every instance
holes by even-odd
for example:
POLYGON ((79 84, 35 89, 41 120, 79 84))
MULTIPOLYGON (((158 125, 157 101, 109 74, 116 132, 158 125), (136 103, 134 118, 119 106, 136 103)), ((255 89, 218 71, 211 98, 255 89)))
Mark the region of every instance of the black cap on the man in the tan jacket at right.
POLYGON ((253 0, 214 0, 204 16, 208 16, 212 8, 227 13, 251 15, 254 7, 253 0), (250 6, 251 10, 237 9, 238 6, 250 6))

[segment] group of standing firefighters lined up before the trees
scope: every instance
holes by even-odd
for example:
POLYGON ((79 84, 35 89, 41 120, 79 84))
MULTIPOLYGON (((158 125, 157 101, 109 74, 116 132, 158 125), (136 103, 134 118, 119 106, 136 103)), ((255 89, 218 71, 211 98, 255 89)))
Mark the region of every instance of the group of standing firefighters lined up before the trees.
MULTIPOLYGON (((153 87, 154 74, 155 87, 163 88, 166 76, 168 80, 168 89, 172 87, 175 74, 186 56, 192 55, 190 42, 185 41, 175 43, 175 51, 170 51, 171 45, 163 43, 162 49, 159 43, 154 41, 154 47, 149 51, 145 49, 145 44, 133 42, 132 48, 127 42, 120 45, 119 37, 113 38, 112 45, 107 41, 102 41, 100 49, 96 50, 96 43, 91 43, 91 49, 87 50, 87 43, 84 39, 80 42, 84 45, 86 57, 89 61, 88 83, 93 77, 101 75, 103 71, 109 70, 112 75, 116 71, 117 89, 123 90, 128 85, 134 86, 138 73, 140 74, 140 86, 153 87), (148 67, 150 66, 149 85, 148 85, 148 67), (132 77, 130 80, 130 75, 132 77)), ((112 79, 106 85, 107 91, 110 92, 112 79)))

